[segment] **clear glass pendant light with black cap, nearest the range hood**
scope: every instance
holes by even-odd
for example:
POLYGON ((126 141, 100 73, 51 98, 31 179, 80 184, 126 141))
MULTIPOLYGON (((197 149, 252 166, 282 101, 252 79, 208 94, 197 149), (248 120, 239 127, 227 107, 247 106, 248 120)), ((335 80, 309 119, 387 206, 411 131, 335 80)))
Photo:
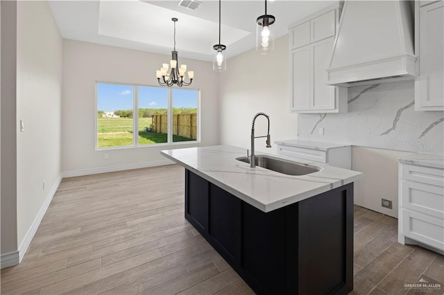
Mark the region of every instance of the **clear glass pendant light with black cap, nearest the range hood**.
POLYGON ((266 0, 265 0, 265 15, 261 15, 256 19, 256 51, 260 54, 267 54, 275 47, 274 40, 274 26, 275 17, 266 14, 266 0))

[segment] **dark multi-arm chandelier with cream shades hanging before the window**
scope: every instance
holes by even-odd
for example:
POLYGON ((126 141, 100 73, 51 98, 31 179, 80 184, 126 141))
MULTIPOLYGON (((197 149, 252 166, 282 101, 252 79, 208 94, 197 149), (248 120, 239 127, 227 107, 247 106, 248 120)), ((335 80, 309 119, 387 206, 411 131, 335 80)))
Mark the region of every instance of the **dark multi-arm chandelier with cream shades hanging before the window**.
POLYGON ((187 65, 178 64, 178 52, 176 51, 176 17, 171 19, 174 22, 174 49, 171 51, 170 64, 162 64, 160 70, 155 71, 157 82, 162 86, 171 87, 176 84, 178 87, 189 86, 193 82, 194 71, 188 71, 189 82, 185 82, 184 77, 187 72, 187 65), (171 72, 168 73, 169 66, 171 65, 171 72))

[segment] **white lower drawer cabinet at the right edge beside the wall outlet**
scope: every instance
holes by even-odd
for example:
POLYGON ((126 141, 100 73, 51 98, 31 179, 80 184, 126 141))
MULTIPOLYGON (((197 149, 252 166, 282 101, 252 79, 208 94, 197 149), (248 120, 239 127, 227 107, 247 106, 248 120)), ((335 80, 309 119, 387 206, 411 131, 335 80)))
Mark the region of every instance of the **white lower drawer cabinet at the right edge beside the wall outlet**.
POLYGON ((444 253, 444 170, 422 165, 400 159, 398 242, 444 253))

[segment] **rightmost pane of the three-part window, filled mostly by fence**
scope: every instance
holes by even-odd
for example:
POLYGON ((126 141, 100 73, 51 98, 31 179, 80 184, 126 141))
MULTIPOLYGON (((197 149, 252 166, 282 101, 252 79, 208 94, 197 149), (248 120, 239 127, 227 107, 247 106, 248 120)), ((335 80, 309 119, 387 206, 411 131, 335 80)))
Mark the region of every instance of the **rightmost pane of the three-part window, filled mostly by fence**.
POLYGON ((197 141, 198 90, 173 89, 173 142, 197 141))

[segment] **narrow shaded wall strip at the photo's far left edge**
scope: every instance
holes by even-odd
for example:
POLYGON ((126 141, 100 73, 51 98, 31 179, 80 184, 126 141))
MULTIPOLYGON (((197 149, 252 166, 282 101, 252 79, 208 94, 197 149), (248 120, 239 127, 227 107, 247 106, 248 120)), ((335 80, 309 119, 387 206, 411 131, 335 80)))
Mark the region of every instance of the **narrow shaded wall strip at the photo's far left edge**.
POLYGON ((1 1, 1 267, 16 264, 17 141, 16 54, 17 2, 1 1), (10 255, 6 255, 10 253, 10 255))

